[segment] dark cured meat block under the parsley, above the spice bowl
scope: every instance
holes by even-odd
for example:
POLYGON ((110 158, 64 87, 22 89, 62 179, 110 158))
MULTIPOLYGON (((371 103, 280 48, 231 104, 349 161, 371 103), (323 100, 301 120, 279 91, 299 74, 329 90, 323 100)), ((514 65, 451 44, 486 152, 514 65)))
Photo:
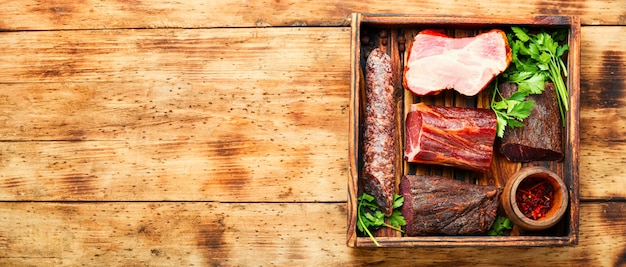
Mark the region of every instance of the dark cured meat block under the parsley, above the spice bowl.
MULTIPOLYGON (((517 84, 499 85, 502 96, 517 91, 517 84)), ((533 110, 524 120, 524 127, 507 128, 500 145, 500 153, 510 161, 543 161, 563 158, 562 122, 556 92, 552 83, 546 83, 543 93, 530 95, 535 101, 533 110)))

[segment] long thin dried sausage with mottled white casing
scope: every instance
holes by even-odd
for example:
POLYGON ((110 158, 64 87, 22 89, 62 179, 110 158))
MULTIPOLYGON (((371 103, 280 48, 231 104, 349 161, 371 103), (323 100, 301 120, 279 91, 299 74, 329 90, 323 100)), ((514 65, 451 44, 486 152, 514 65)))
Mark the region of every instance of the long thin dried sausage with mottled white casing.
POLYGON ((363 189, 391 215, 396 173, 396 104, 389 55, 376 48, 366 66, 363 189))

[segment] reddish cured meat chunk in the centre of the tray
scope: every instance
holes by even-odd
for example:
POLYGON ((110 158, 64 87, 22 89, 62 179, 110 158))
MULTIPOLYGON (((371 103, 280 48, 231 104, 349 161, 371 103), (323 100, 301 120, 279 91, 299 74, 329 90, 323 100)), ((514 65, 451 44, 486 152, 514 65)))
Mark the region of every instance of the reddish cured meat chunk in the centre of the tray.
POLYGON ((406 117, 404 159, 486 172, 496 138, 489 109, 413 104, 406 117))

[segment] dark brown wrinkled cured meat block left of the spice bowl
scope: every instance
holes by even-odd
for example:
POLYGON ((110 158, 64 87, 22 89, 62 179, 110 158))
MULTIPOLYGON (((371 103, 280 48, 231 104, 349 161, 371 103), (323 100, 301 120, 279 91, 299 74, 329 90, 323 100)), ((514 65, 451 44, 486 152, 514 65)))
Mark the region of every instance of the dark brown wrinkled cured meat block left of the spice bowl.
POLYGON ((400 181, 408 236, 475 235, 489 230, 502 190, 441 176, 406 175, 400 181))

